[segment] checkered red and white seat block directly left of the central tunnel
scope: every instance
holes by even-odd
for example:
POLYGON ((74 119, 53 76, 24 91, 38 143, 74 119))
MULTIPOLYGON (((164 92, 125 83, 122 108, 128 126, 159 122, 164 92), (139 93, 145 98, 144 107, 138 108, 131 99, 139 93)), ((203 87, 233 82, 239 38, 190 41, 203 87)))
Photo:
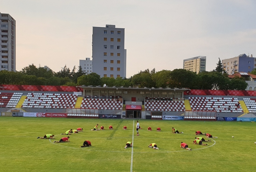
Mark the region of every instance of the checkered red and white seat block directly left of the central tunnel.
POLYGON ((102 98, 83 98, 81 108, 84 109, 104 109, 104 110, 122 110, 123 103, 115 99, 102 98))

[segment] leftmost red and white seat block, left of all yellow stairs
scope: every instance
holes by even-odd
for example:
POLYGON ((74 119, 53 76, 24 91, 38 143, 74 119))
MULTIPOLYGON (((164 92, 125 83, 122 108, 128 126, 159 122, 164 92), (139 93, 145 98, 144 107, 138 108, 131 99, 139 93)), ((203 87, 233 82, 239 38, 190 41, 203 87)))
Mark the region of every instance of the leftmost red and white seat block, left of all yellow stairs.
POLYGON ((0 93, 0 107, 15 108, 23 93, 0 93))

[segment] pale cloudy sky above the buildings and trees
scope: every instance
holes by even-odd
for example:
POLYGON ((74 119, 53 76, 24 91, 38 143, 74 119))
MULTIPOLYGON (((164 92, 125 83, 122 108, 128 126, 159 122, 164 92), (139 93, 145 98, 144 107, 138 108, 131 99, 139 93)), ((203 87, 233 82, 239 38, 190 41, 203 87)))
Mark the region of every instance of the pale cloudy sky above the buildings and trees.
POLYGON ((140 70, 183 68, 206 56, 206 70, 239 54, 256 57, 254 0, 0 0, 16 20, 16 70, 53 71, 92 55, 93 27, 125 28, 127 78, 140 70))

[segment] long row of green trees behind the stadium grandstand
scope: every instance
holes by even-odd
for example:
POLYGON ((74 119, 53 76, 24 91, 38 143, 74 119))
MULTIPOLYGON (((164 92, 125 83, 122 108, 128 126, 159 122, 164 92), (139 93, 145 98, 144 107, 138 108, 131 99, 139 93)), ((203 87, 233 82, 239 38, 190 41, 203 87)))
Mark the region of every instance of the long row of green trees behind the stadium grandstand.
MULTIPOLYGON (((252 71, 256 74, 256 69, 252 71)), ((59 72, 54 72, 51 69, 46 70, 43 67, 36 67, 31 64, 24 67, 18 72, 0 71, 0 84, 15 84, 15 85, 94 85, 103 84, 109 87, 147 87, 147 88, 189 88, 203 90, 245 90, 247 83, 245 78, 235 77, 228 78, 224 72, 221 60, 219 59, 217 67, 211 72, 195 72, 186 71, 185 69, 174 69, 151 71, 146 69, 134 74, 130 78, 110 78, 100 77, 96 73, 86 75, 82 71, 82 67, 73 67, 72 71, 66 65, 59 72)))

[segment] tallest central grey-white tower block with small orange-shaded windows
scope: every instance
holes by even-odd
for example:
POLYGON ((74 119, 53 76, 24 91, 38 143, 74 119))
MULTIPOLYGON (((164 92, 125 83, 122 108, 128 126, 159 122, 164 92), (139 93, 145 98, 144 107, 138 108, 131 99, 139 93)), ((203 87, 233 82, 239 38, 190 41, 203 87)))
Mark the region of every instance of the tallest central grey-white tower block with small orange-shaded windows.
POLYGON ((100 77, 126 77, 125 29, 93 27, 93 72, 100 77))

